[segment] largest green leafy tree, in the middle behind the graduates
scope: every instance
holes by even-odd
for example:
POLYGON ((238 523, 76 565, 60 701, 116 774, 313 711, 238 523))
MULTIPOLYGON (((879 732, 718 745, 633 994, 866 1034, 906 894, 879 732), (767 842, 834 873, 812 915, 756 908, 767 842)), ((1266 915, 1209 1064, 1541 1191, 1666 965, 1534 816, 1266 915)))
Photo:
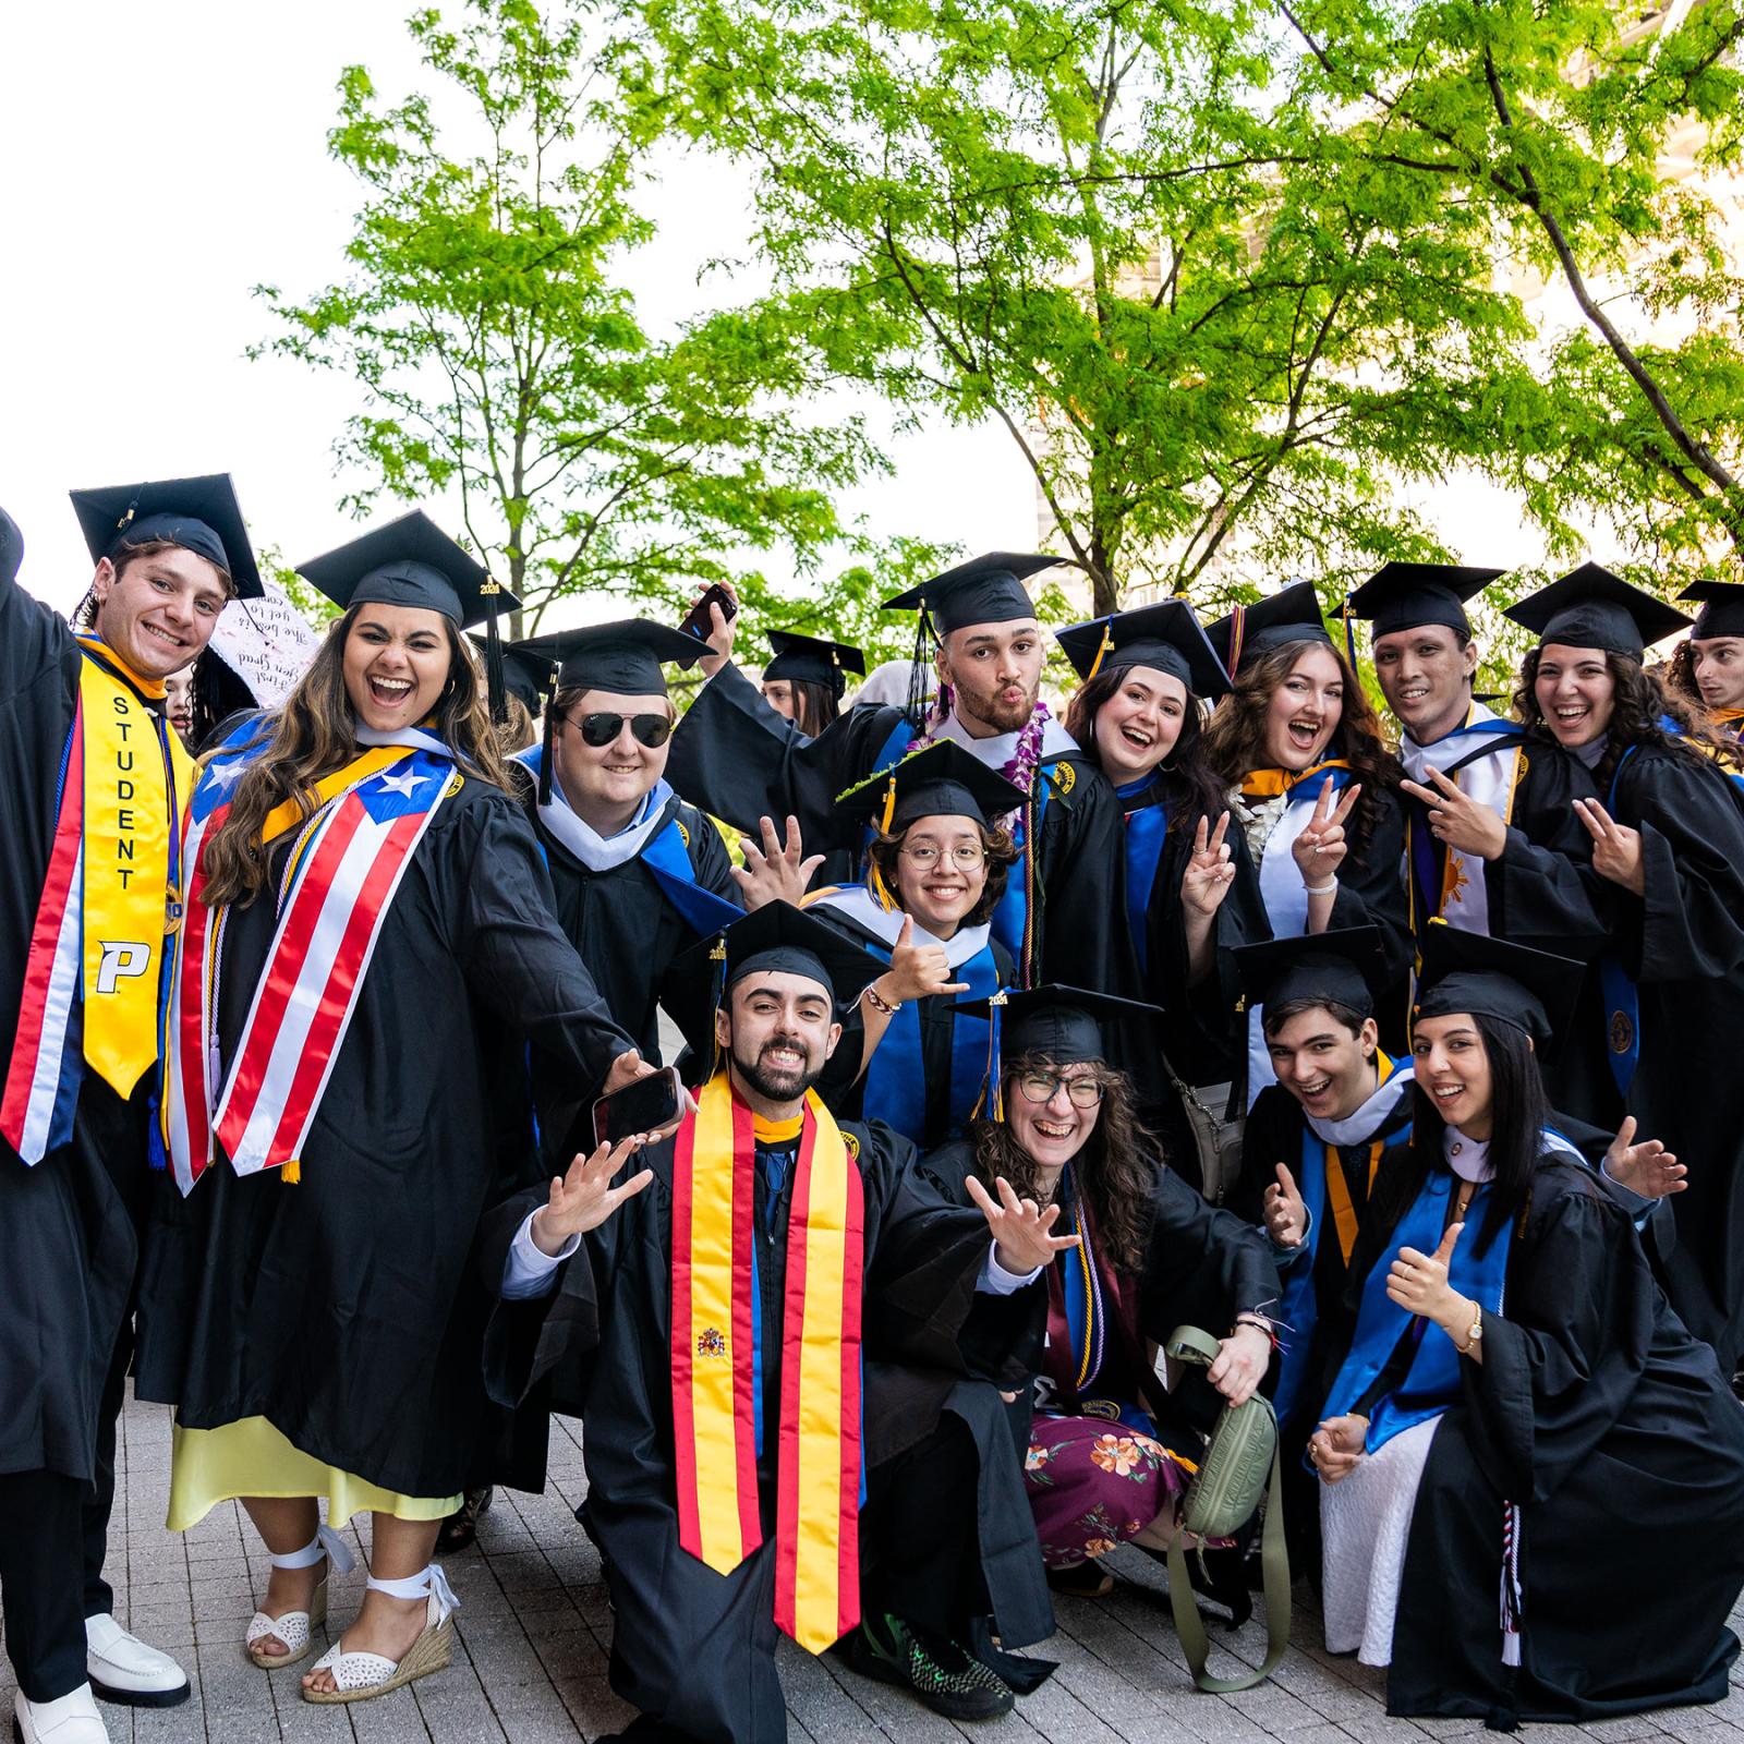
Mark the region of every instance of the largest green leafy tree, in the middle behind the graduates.
POLYGON ((1533 392, 1488 215, 1346 148, 1257 0, 647 0, 644 75, 755 171, 818 366, 996 420, 1095 610, 1437 542, 1533 392))

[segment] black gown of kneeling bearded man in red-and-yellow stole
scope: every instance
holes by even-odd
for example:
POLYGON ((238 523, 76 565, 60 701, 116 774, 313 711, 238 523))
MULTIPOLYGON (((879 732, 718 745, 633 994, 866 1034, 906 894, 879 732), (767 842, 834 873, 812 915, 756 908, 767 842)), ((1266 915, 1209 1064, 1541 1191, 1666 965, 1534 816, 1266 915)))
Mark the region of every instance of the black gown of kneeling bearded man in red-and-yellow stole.
MULTIPOLYGON (((926 1369, 963 1373, 957 1329, 975 1301, 991 1242, 980 1212, 945 1205, 914 1172, 914 1148, 874 1121, 842 1123, 858 1144, 865 1184, 865 1313, 869 1367, 902 1355, 926 1369)), ((853 1148, 853 1146, 851 1146, 853 1148)), ((759 1146, 757 1236, 764 1327, 780 1329, 787 1273, 792 1168, 774 1203, 759 1146), (773 1236, 773 1238, 771 1238, 773 1236)), ((582 1243, 556 1287, 497 1306, 485 1345, 492 1397, 518 1404, 548 1378, 582 1397, 588 1467, 586 1528, 605 1559, 612 1592, 612 1688, 673 1732, 713 1744, 781 1744, 787 1709, 774 1650, 776 1435, 759 1461, 762 1545, 719 1575, 678 1545, 671 1418, 671 1163, 666 1139, 626 1165, 654 1181, 582 1243), (567 1371, 567 1374, 565 1374, 567 1371)), ((483 1277, 501 1278, 509 1238, 537 1195, 509 1202, 481 1243, 483 1277)), ((764 1338, 766 1425, 778 1421, 780 1338, 764 1338)), ((865 1458, 900 1448, 872 1406, 865 1458)), ((1022 1632, 1008 1646, 1027 1645, 1022 1632)))

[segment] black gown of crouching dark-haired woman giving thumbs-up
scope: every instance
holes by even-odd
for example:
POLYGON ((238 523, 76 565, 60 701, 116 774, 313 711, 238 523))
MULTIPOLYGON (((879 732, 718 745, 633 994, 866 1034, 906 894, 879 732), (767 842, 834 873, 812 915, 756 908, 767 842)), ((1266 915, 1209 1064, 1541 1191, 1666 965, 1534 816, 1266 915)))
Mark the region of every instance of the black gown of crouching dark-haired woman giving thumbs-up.
MULTIPOLYGON (((1366 1231, 1362 1261, 1392 1261, 1388 1231, 1366 1231)), ((1629 1214, 1570 1163, 1540 1165, 1505 1301, 1423 1468, 1388 1713, 1592 1721, 1721 1700, 1739 1652, 1725 1624, 1744 1584, 1744 1413, 1713 1352, 1667 1305, 1629 1214), (1505 1502, 1523 1516, 1514 1672, 1505 1502)))

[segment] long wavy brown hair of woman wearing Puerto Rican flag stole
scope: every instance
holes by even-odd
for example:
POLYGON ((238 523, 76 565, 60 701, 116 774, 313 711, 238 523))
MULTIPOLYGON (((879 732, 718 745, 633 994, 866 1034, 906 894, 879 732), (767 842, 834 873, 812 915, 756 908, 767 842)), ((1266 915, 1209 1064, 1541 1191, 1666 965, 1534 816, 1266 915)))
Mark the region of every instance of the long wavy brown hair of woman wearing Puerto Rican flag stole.
MULTIPOLYGON (((216 909, 225 902, 253 902, 267 888, 267 855, 262 830, 267 814, 295 800, 302 816, 316 813, 314 785, 358 755, 356 713, 345 691, 345 640, 363 607, 354 605, 337 619, 314 663, 284 706, 263 715, 262 732, 270 732, 267 750, 235 785, 230 816, 213 832, 201 855, 206 872, 204 900, 216 909)), ((436 699, 436 736, 453 752, 460 767, 494 787, 508 790, 508 771, 485 685, 460 631, 443 619, 448 635, 448 682, 436 699)))

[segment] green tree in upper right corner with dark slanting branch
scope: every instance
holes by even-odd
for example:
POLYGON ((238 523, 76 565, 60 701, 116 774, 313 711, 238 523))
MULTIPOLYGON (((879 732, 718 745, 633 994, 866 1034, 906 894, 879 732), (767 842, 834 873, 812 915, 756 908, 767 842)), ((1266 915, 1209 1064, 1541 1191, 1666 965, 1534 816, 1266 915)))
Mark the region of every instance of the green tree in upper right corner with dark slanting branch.
POLYGON ((1482 216, 1578 317, 1493 401, 1495 471, 1547 527, 1610 521, 1648 577, 1744 542, 1739 0, 1282 0, 1301 73, 1386 155, 1482 216))

